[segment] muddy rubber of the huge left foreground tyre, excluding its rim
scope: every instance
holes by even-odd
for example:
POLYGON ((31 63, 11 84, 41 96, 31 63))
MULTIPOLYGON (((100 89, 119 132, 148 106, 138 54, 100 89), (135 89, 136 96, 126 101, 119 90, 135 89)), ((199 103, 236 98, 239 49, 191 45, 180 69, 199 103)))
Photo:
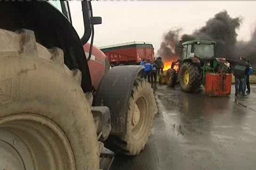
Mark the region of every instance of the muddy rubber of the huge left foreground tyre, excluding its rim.
POLYGON ((0 61, 1 78, 12 80, 12 100, 0 101, 0 119, 34 111, 47 117, 67 136, 76 170, 98 170, 101 151, 90 105, 81 89, 81 71, 64 64, 63 50, 47 49, 31 30, 0 29, 0 61))

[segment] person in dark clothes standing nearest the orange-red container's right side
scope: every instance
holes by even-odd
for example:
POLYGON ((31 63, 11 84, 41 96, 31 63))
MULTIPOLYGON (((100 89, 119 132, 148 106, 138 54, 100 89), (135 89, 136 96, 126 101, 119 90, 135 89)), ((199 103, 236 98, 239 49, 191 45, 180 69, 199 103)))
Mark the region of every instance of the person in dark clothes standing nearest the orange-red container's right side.
POLYGON ((239 93, 239 88, 241 89, 241 93, 245 96, 245 76, 247 75, 247 71, 249 70, 249 65, 245 61, 244 57, 240 57, 239 61, 233 59, 227 59, 227 62, 230 62, 233 67, 233 73, 235 76, 235 96, 239 93))

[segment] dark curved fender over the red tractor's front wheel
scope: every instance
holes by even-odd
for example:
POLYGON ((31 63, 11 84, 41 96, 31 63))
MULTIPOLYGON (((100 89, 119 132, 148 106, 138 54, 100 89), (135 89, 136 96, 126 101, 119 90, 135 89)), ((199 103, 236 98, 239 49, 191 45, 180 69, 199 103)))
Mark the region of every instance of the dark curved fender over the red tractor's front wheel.
POLYGON ((107 106, 111 114, 111 134, 126 132, 129 99, 135 79, 143 75, 143 66, 123 65, 111 68, 103 77, 94 97, 95 106, 107 106))

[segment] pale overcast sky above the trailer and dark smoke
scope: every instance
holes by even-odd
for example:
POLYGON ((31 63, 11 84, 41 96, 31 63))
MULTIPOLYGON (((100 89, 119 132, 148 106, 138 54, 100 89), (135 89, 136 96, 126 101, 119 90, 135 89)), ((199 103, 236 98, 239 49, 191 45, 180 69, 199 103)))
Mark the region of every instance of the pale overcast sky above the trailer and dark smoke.
MULTIPOLYGON (((153 43, 155 53, 164 32, 182 28, 181 33, 191 34, 219 11, 227 10, 231 17, 243 18, 238 40, 249 40, 256 26, 256 2, 93 1, 92 7, 93 15, 102 17, 102 24, 94 26, 94 45, 146 41, 153 43)), ((81 3, 70 2, 70 8, 73 26, 82 36, 81 3)))

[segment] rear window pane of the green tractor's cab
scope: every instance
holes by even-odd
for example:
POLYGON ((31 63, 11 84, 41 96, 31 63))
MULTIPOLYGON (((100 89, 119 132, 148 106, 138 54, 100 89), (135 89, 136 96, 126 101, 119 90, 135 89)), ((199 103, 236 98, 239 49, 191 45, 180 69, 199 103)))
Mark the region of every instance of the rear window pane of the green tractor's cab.
POLYGON ((214 57, 213 44, 194 44, 194 54, 199 58, 214 57))

